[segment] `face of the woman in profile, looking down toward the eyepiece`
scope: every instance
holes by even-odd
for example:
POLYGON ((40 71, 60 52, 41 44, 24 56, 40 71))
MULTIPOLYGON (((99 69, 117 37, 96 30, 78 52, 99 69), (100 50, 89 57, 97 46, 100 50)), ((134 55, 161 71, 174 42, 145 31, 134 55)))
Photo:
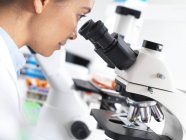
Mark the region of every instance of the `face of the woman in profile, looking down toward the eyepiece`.
POLYGON ((68 39, 75 39, 79 20, 89 13, 94 0, 49 0, 41 14, 30 23, 28 45, 37 53, 50 56, 68 39))

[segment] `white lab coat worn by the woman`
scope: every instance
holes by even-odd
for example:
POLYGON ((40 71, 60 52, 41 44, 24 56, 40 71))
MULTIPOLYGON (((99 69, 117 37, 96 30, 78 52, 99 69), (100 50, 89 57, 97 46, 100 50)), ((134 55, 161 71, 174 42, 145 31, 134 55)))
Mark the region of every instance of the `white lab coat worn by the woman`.
POLYGON ((20 90, 11 56, 0 35, 0 140, 18 140, 21 120, 20 90))

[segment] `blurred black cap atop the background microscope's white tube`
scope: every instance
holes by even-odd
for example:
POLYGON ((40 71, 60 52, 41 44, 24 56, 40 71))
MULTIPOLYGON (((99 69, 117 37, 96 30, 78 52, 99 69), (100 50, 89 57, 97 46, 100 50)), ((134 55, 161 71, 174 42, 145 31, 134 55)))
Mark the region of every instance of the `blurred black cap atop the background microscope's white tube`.
POLYGON ((139 19, 141 16, 141 11, 130 9, 124 6, 117 6, 116 13, 121 15, 132 15, 137 19, 139 19))

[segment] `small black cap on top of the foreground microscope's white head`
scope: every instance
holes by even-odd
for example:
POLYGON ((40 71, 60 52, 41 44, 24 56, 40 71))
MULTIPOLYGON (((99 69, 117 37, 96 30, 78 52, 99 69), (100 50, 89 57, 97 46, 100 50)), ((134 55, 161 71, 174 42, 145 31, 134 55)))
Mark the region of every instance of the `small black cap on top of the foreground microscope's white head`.
POLYGON ((143 45, 142 46, 144 48, 155 50, 155 51, 159 51, 159 52, 161 52, 162 49, 163 49, 163 45, 162 44, 151 42, 151 41, 147 41, 147 40, 143 41, 143 45))

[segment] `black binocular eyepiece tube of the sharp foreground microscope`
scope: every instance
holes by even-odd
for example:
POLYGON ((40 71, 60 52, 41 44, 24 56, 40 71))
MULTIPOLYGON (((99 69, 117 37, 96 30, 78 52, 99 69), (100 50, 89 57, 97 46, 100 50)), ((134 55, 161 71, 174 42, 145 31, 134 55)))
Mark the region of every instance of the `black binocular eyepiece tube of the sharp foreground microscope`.
POLYGON ((94 44, 97 54, 111 68, 125 70, 136 61, 137 54, 123 40, 123 36, 109 34, 101 21, 89 20, 80 28, 79 33, 94 44))

